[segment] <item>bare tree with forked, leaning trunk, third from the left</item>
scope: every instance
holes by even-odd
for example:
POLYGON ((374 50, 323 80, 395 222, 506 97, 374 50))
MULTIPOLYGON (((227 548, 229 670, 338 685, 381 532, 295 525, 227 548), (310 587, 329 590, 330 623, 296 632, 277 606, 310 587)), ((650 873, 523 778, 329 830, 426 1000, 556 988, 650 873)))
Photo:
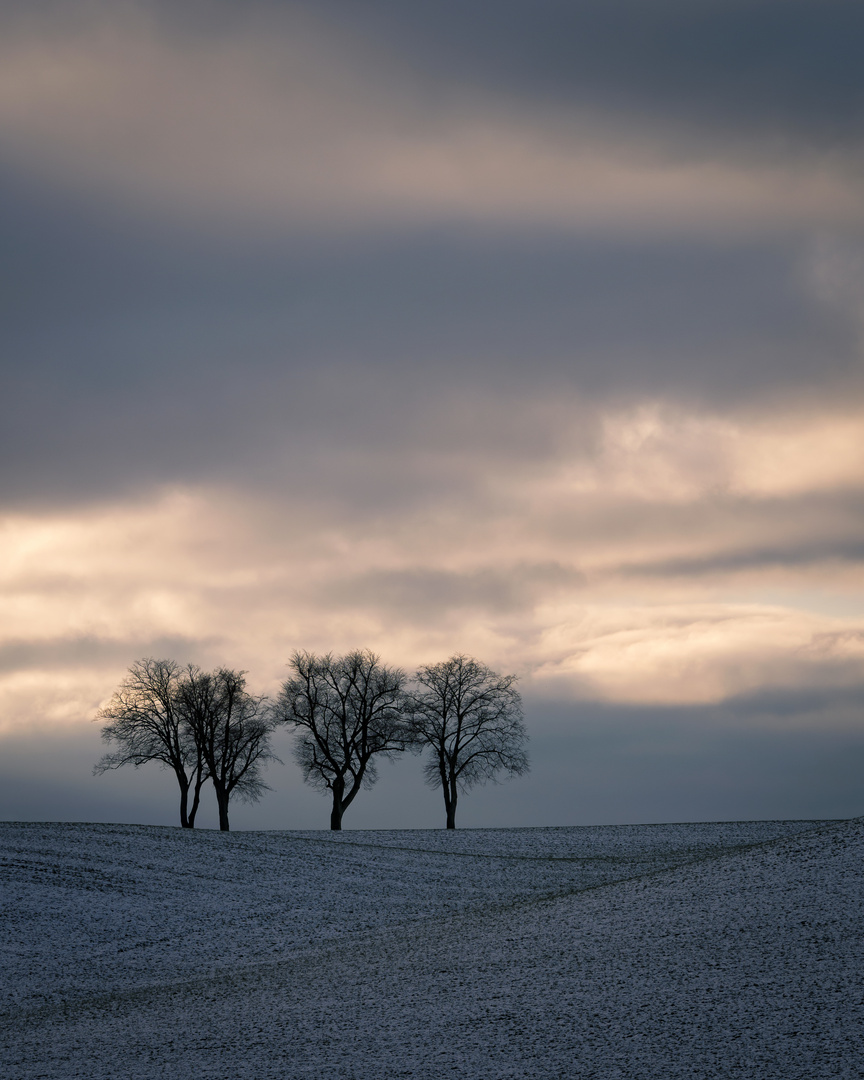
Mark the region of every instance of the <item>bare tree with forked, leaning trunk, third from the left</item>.
POLYGON ((276 714, 295 728, 295 758, 303 780, 333 800, 330 828, 361 787, 378 779, 376 761, 407 746, 405 673, 369 651, 319 657, 295 652, 276 714))

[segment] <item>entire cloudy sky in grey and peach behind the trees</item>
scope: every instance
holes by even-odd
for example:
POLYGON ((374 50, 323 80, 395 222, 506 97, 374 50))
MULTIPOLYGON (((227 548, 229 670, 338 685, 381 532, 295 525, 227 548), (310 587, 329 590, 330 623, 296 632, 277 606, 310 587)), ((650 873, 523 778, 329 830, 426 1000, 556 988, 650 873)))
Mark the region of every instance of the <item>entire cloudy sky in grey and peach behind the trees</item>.
MULTIPOLYGON (((519 674, 532 771, 462 825, 864 812, 862 40, 3 0, 0 815, 174 823, 90 772, 140 657, 357 647, 519 674)), ((281 745, 233 823, 324 827, 281 745)), ((346 827, 442 825, 421 783, 346 827)))

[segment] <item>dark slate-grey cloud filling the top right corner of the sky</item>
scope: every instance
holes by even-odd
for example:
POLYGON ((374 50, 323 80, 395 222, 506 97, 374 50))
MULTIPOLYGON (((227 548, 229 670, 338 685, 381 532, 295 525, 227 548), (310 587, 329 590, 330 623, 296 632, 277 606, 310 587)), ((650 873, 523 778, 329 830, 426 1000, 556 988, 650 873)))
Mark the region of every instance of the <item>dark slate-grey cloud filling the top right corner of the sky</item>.
POLYGON ((864 12, 846 0, 325 0, 316 9, 392 42, 431 81, 677 124, 697 146, 861 148, 864 12))

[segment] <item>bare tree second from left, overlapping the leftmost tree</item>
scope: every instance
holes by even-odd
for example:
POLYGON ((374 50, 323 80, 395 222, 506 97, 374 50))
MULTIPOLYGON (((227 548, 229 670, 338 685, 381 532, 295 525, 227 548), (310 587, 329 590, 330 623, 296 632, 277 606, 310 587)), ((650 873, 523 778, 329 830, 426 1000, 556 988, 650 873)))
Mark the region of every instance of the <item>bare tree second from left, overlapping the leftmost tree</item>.
POLYGON ((246 690, 245 672, 220 667, 202 672, 190 664, 179 679, 177 700, 213 781, 219 828, 227 833, 232 795, 255 802, 269 791, 261 771, 279 760, 270 748, 275 719, 264 698, 246 690))

